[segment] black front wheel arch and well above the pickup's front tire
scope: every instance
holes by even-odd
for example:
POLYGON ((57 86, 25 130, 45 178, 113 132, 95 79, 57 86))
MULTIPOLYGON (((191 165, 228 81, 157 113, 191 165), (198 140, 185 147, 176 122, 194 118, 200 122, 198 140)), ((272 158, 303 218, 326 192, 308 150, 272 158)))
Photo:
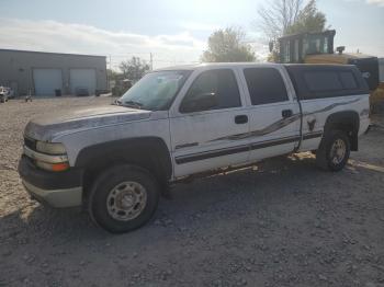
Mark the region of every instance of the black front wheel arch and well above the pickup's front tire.
POLYGON ((167 145, 160 138, 117 140, 87 147, 79 152, 75 164, 84 170, 84 203, 94 179, 105 169, 118 164, 132 164, 149 171, 165 192, 172 174, 170 154, 167 145))

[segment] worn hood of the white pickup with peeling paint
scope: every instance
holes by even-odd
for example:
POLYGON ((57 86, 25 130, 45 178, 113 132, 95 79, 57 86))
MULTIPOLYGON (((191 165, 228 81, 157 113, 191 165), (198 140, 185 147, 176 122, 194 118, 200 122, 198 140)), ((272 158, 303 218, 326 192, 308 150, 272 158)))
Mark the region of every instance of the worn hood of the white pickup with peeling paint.
POLYGON ((24 136, 49 141, 54 137, 94 127, 115 125, 149 118, 151 112, 125 106, 105 105, 48 113, 32 119, 24 136))

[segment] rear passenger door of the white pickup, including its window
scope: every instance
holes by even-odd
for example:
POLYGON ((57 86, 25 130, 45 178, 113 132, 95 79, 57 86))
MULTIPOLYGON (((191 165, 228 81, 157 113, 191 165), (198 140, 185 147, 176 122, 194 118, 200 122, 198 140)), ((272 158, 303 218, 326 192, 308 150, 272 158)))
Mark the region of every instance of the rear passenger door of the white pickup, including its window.
POLYGON ((300 140, 300 106, 281 66, 240 69, 250 123, 250 161, 292 152, 300 140))

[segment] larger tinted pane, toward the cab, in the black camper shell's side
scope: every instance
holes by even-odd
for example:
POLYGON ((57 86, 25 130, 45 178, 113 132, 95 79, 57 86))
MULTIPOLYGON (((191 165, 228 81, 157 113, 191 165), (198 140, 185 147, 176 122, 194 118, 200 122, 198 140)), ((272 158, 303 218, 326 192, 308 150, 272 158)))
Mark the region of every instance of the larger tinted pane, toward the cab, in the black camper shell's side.
POLYGON ((342 89, 338 73, 332 71, 310 71, 304 73, 309 91, 334 91, 342 89))

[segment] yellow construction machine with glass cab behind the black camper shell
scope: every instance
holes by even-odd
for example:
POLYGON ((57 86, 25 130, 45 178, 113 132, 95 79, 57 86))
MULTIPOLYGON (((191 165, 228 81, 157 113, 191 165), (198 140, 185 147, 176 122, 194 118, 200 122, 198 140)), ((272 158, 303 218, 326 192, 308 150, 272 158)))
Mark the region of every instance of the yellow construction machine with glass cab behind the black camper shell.
MULTIPOLYGON (((301 33, 279 38, 279 62, 283 64, 339 64, 355 65, 362 72, 371 90, 372 110, 384 103, 384 83, 379 80, 379 59, 361 53, 343 53, 346 47, 334 50, 335 30, 320 33, 301 33)), ((270 44, 270 50, 273 45, 270 44)))

